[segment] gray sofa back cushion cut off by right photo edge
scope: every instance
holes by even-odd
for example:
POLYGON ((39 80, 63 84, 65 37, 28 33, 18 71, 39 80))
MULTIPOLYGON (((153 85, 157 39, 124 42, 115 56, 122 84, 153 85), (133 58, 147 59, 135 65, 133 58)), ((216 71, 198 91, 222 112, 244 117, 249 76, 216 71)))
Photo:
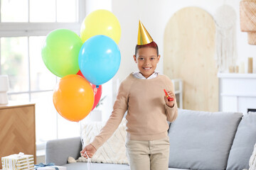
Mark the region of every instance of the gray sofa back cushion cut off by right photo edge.
POLYGON ((228 157, 227 170, 249 169, 249 160, 256 142, 256 113, 242 117, 228 157))

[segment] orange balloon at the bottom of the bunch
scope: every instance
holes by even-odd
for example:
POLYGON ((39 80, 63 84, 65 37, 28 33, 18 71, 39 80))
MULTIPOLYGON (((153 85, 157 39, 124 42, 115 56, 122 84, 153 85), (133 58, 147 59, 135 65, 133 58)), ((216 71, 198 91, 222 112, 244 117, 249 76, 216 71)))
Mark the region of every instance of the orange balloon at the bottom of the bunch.
POLYGON ((79 122, 85 118, 94 103, 94 93, 90 82, 70 74, 60 79, 53 93, 53 104, 65 119, 79 122))

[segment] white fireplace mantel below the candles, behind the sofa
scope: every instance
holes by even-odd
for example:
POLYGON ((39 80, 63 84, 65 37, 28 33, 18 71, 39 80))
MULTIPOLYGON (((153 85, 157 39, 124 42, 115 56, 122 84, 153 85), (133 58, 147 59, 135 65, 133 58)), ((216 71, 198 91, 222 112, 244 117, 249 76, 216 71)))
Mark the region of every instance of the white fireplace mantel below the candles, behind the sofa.
POLYGON ((256 74, 219 73, 220 111, 241 112, 255 108, 256 74))

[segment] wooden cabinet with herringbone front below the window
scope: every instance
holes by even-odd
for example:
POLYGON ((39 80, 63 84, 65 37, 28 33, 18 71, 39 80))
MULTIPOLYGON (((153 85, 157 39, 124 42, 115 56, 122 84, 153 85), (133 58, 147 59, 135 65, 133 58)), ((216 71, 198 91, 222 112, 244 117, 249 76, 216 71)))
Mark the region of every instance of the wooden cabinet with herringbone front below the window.
POLYGON ((0 157, 19 152, 33 154, 36 162, 35 104, 10 101, 0 105, 0 157))

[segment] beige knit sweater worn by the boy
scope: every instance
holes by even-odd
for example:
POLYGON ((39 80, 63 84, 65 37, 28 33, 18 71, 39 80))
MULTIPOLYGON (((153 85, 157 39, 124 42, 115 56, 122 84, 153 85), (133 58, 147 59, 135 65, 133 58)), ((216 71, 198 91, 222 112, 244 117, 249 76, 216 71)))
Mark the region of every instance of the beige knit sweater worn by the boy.
POLYGON ((154 79, 137 79, 133 74, 122 81, 112 114, 91 145, 101 147, 117 129, 127 111, 127 137, 129 140, 159 140, 167 136, 166 120, 173 122, 177 103, 170 108, 164 101, 164 89, 174 92, 172 81, 159 74, 154 79))

